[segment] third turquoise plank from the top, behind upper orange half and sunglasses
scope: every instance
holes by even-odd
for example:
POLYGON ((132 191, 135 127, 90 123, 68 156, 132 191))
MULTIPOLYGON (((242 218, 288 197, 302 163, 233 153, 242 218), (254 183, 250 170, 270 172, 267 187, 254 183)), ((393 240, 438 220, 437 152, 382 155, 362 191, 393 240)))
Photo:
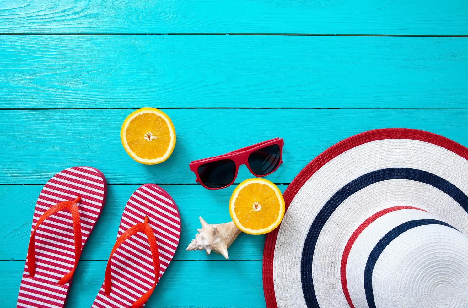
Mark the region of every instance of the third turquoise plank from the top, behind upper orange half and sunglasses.
MULTIPOLYGON (((177 143, 167 161, 141 165, 120 143, 132 110, 1 110, 3 184, 45 183, 73 165, 99 168, 109 183, 195 184, 191 160, 283 137, 284 161, 267 178, 289 183, 315 156, 357 133, 386 127, 428 130, 468 145, 468 110, 167 109, 177 143)), ((252 177, 242 166, 237 177, 252 177)), ((199 186, 198 191, 203 191, 199 186)), ((231 188, 233 189, 233 188, 231 188)), ((212 195, 224 194, 224 190, 212 195)))

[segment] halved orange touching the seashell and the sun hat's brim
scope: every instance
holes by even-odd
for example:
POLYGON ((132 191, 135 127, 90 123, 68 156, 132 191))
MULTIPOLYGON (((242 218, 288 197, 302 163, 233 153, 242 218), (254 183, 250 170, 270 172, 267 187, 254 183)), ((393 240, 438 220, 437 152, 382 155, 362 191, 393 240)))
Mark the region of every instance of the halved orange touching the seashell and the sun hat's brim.
POLYGON ((229 201, 234 224, 245 233, 273 231, 285 215, 285 200, 279 188, 269 180, 253 178, 239 184, 229 201))

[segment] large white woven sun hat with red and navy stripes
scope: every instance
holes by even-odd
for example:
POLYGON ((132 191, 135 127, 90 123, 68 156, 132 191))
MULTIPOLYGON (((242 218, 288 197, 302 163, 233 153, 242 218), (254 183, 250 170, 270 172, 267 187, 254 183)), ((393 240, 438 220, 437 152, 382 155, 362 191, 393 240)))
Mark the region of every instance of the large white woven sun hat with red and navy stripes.
POLYGON ((335 144, 286 189, 267 307, 468 307, 468 149, 404 128, 335 144))

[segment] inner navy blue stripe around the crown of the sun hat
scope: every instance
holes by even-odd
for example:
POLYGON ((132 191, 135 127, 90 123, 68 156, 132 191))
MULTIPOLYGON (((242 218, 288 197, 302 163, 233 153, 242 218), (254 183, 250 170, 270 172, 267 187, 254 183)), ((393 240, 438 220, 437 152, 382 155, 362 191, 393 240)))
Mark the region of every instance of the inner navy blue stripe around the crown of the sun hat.
POLYGON ((388 246, 388 244, 391 243, 392 240, 395 240, 400 234, 408 231, 409 229, 416 228, 421 225, 445 225, 447 227, 453 228, 453 226, 447 224, 446 222, 437 219, 418 219, 402 223, 401 225, 396 226, 387 234, 385 234, 372 249, 369 258, 367 259, 366 269, 364 270, 364 291, 366 292, 366 300, 369 308, 376 308, 374 292, 372 287, 372 274, 375 267, 375 263, 377 263, 377 260, 379 259, 383 250, 388 246))

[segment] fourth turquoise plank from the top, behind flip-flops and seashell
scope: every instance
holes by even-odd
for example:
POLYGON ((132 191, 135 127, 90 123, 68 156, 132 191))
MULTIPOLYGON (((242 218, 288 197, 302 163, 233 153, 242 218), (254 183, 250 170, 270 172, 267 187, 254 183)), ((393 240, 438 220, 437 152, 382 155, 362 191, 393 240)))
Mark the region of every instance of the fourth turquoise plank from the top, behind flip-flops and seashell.
MULTIPOLYGON (((107 202, 102 210, 81 260, 107 260, 117 237, 117 229, 125 203, 138 185, 110 185, 107 202)), ((200 228, 198 216, 209 223, 231 221, 228 204, 234 186, 213 192, 188 185, 164 186, 179 207, 182 222, 180 244, 175 260, 224 260, 221 255, 206 255, 200 251, 186 251, 187 245, 195 238, 200 228)), ((286 185, 279 185, 284 191, 286 185)), ((37 197, 42 186, 2 185, 0 186, 0 260, 24 260, 31 232, 31 221, 37 197)), ((228 249, 230 260, 262 260, 263 235, 242 233, 228 249)))

